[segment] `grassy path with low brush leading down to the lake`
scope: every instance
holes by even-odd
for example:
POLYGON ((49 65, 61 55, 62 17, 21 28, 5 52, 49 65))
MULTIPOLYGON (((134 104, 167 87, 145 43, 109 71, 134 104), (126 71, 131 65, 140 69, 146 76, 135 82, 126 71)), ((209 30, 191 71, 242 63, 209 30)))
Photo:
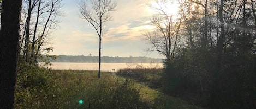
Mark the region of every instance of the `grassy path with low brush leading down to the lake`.
POLYGON ((135 82, 135 85, 140 87, 140 97, 143 100, 150 102, 153 108, 165 109, 195 109, 200 108, 188 104, 188 102, 180 98, 171 97, 159 91, 159 79, 162 69, 159 68, 137 68, 137 69, 122 69, 117 72, 118 78, 130 79, 135 82), (129 71, 129 72, 127 72, 129 71))

